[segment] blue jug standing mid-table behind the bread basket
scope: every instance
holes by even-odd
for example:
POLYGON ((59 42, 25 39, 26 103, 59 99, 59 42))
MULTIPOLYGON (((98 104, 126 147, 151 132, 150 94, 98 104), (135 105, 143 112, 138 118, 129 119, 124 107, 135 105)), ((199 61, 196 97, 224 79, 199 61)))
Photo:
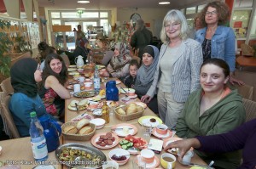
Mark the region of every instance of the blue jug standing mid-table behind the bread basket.
POLYGON ((116 87, 115 81, 109 81, 106 83, 106 99, 119 101, 119 89, 116 87))

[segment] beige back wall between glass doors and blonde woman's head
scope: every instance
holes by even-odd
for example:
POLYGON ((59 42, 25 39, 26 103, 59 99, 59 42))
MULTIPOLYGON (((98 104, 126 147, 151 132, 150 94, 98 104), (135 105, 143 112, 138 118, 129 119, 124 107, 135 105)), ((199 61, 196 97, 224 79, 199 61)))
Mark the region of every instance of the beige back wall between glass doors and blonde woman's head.
MULTIPOLYGON (((131 14, 140 14, 145 23, 150 23, 150 31, 152 31, 153 36, 159 37, 159 31, 156 30, 159 26, 155 26, 155 23, 161 23, 169 11, 169 8, 118 8, 117 10, 117 21, 122 23, 123 21, 130 21, 131 14)), ((161 27, 161 26, 160 26, 161 27)))

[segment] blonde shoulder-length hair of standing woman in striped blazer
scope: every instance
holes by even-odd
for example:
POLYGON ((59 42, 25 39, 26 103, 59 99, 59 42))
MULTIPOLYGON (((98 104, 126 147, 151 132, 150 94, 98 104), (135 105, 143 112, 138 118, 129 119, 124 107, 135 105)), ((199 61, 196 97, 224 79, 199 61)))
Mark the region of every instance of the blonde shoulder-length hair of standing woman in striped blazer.
POLYGON ((165 25, 171 21, 174 22, 179 22, 181 25, 181 29, 180 29, 180 37, 182 39, 186 39, 188 37, 189 34, 189 26, 187 23, 187 20, 185 18, 185 16, 183 15, 182 12, 180 12, 177 9, 172 9, 169 12, 167 12, 164 20, 163 20, 163 24, 162 24, 162 30, 160 32, 160 39, 162 42, 164 43, 168 43, 170 41, 170 38, 167 37, 166 35, 166 28, 165 25))

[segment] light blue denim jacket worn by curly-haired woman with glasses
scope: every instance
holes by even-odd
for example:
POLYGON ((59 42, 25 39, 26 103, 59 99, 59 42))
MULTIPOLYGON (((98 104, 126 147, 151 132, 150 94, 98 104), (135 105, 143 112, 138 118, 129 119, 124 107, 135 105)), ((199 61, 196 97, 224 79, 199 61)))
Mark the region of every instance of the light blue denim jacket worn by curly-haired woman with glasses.
MULTIPOLYGON (((206 37, 207 27, 196 31, 195 40, 204 42, 206 37)), ((230 27, 219 25, 211 41, 211 58, 224 59, 230 66, 230 71, 235 70, 236 65, 236 37, 230 27)))

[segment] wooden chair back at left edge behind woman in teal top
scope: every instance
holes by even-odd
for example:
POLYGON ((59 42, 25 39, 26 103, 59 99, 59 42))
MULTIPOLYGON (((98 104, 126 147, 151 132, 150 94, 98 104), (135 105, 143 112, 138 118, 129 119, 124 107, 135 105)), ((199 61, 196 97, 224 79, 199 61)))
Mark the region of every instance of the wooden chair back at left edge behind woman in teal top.
POLYGON ((2 118, 5 132, 9 135, 9 138, 20 138, 20 134, 15 126, 13 116, 9 111, 9 99, 10 96, 5 96, 1 103, 2 106, 2 118))

